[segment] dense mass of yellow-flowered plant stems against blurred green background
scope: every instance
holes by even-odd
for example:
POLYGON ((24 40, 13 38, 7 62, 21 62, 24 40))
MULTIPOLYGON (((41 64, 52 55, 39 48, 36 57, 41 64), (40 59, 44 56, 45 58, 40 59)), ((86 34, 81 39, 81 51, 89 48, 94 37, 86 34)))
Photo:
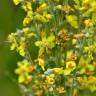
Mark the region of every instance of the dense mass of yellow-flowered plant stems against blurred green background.
POLYGON ((13 2, 26 12, 23 28, 8 36, 10 49, 23 58, 15 70, 22 96, 95 92, 96 1, 13 2))

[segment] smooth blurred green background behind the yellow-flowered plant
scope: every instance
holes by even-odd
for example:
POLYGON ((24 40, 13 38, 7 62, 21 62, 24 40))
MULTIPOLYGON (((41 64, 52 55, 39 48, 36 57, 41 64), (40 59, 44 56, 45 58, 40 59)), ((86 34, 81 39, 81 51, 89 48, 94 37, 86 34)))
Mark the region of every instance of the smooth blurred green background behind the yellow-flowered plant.
MULTIPOLYGON (((21 96, 14 69, 21 58, 10 51, 7 36, 22 28, 24 11, 12 0, 0 0, 0 96, 21 96)), ((95 93, 81 92, 82 96, 96 96, 95 93)), ((80 95, 81 96, 81 95, 80 95)))

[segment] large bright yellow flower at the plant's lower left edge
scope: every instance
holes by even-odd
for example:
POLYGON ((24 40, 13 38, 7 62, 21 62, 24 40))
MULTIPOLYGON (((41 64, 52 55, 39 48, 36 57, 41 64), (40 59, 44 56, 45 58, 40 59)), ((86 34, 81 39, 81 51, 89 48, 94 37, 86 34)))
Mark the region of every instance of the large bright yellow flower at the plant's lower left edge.
POLYGON ((22 62, 18 62, 18 68, 15 70, 15 73, 19 75, 18 82, 19 83, 29 83, 32 80, 32 76, 29 74, 33 71, 34 67, 29 65, 27 60, 22 62))

